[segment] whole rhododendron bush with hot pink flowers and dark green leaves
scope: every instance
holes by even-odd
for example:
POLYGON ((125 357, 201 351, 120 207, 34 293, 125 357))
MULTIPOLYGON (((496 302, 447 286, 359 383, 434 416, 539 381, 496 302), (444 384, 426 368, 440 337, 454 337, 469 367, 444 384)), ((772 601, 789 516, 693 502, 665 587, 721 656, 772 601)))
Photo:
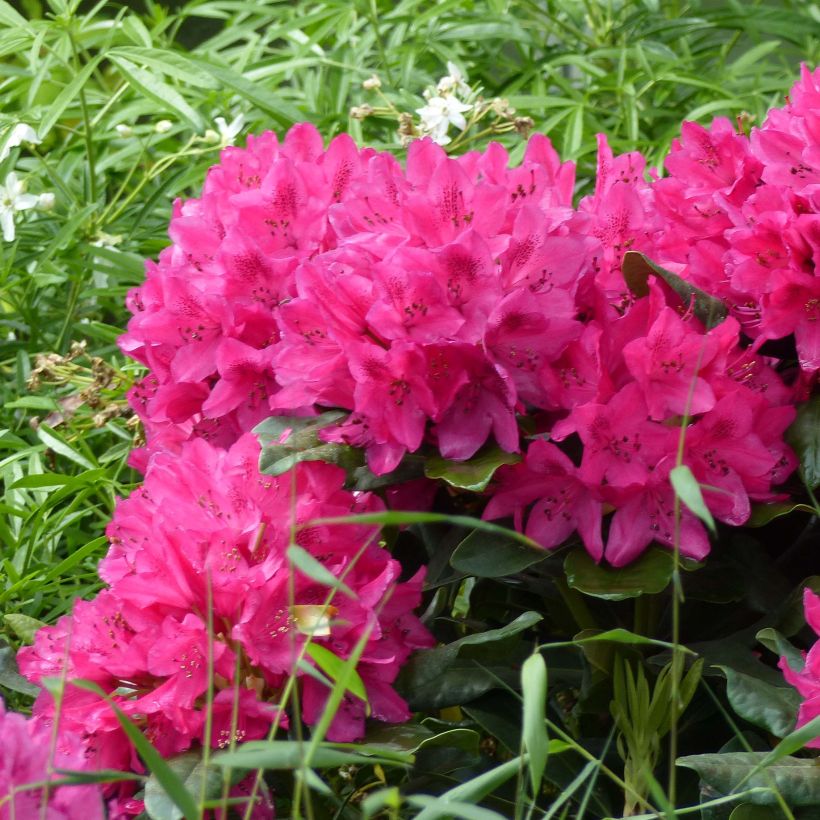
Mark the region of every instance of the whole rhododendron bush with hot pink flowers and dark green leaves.
MULTIPOLYGON (((627 813, 653 810, 659 741, 630 727, 677 738, 693 698, 706 720, 701 674, 767 738, 797 725, 820 745, 817 647, 789 642, 800 602, 774 570, 766 586, 749 529, 797 510, 784 526, 816 537, 820 70, 741 125, 684 123, 663 169, 600 135, 580 198, 543 134, 520 162, 429 137, 399 161, 308 124, 225 148, 128 296, 144 481, 108 527, 102 591, 18 654, 41 688, 29 723, 0 712, 0 738, 50 733, 65 761, 4 757, 0 817, 4 789, 53 768, 136 779, 12 800, 163 816, 129 727, 162 759, 238 770, 220 785, 248 816, 316 788, 310 765, 355 778, 340 743, 364 742, 359 767, 401 750, 455 772, 478 765, 477 733, 502 766, 526 752, 510 772, 545 807, 581 768, 545 774, 548 735, 567 758, 617 748, 627 813), (686 631, 682 612, 708 624, 747 592, 720 634, 686 631), (705 666, 684 669, 682 634, 705 666), (304 738, 308 762, 275 757, 304 738), (251 773, 299 765, 287 785, 251 773)), ((798 596, 815 632, 817 580, 798 596)), ((740 737, 729 781, 717 748, 678 760, 704 799, 760 786, 764 740, 740 737)), ((693 751, 673 745, 672 772, 676 748, 693 751)), ((403 783, 380 771, 374 811, 403 783)), ((420 771, 405 790, 441 791, 420 771)))

